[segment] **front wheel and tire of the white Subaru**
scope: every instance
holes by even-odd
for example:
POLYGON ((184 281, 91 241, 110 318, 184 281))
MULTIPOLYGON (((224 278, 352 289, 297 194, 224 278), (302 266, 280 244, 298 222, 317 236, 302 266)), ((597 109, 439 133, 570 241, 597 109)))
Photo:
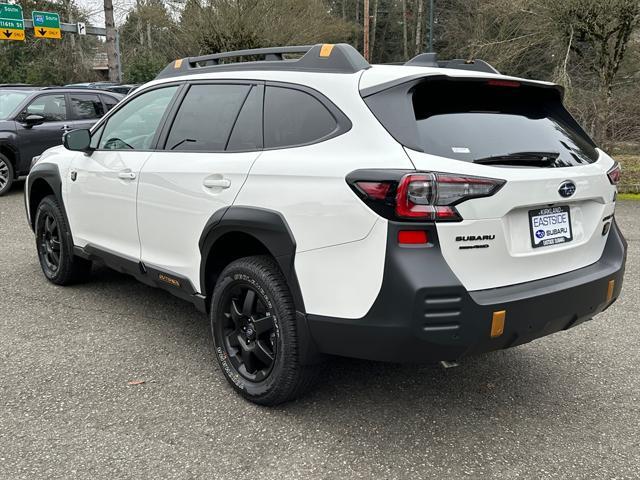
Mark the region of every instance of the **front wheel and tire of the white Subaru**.
POLYGON ((53 195, 42 199, 36 210, 36 248, 44 276, 56 285, 71 285, 86 280, 91 262, 71 255, 69 226, 53 195))

